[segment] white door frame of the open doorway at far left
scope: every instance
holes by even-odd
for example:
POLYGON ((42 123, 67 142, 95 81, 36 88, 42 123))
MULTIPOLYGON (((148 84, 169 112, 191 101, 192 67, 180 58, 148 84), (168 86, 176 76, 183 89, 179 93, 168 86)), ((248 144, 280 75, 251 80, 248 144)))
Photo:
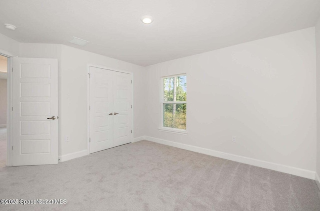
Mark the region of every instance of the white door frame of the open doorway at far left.
POLYGON ((7 73, 6 73, 6 166, 13 165, 12 153, 12 62, 13 57, 17 57, 10 52, 0 49, 0 55, 7 57, 7 73))

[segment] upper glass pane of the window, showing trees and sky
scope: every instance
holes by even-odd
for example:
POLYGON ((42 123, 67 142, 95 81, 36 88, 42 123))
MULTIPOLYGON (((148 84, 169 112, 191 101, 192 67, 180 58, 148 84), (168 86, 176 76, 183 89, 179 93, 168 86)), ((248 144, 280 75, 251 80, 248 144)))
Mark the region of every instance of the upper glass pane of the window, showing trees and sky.
POLYGON ((163 78, 163 101, 186 101, 186 75, 163 78))

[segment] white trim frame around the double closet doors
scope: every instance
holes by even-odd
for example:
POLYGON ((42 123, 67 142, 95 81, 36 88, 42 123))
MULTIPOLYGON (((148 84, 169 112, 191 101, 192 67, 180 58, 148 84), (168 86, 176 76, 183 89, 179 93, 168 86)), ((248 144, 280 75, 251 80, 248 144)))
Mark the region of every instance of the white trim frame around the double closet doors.
POLYGON ((96 68, 100 68, 100 69, 104 69, 104 70, 110 70, 110 71, 114 71, 114 72, 121 72, 121 73, 126 73, 126 74, 130 74, 132 77, 132 141, 133 141, 133 137, 134 137, 134 80, 133 80, 133 72, 128 72, 128 71, 124 71, 124 70, 120 70, 120 69, 116 69, 116 68, 108 68, 102 65, 97 65, 97 64, 87 64, 87 79, 86 79, 86 140, 87 140, 87 154, 90 154, 90 110, 89 110, 89 106, 90 106, 90 67, 96 67, 96 68))

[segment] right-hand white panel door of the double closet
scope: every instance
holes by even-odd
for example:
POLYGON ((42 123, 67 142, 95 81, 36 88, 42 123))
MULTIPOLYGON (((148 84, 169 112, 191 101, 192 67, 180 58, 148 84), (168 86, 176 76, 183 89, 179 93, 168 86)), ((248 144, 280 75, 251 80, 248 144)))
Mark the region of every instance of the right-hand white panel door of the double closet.
POLYGON ((132 142, 132 75, 113 72, 113 146, 132 142))

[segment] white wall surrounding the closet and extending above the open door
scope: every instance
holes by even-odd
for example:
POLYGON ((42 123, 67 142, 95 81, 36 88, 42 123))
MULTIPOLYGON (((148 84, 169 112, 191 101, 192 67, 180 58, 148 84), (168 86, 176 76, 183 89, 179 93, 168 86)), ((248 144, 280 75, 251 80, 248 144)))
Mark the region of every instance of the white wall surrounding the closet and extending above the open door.
POLYGON ((133 136, 144 135, 144 67, 59 44, 20 43, 19 51, 20 57, 58 59, 60 157, 87 149, 87 64, 133 73, 133 136))

